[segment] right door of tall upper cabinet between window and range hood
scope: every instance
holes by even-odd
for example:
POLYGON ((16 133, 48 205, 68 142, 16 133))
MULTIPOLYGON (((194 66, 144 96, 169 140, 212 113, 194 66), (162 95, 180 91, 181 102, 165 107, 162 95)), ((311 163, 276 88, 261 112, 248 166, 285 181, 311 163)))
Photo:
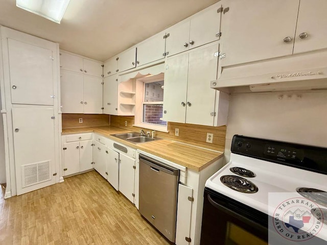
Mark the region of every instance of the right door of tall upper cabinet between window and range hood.
POLYGON ((218 44, 213 44, 189 54, 187 124, 214 125, 211 113, 215 112, 216 90, 210 88, 210 81, 217 79, 218 57, 214 54, 218 50, 218 44))

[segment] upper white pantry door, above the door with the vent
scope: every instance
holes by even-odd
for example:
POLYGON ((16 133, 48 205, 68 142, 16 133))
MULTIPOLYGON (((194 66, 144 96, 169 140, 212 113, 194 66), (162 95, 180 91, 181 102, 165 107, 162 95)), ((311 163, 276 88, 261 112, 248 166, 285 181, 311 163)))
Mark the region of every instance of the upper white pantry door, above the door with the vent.
POLYGON ((52 51, 8 38, 12 104, 53 105, 52 51))

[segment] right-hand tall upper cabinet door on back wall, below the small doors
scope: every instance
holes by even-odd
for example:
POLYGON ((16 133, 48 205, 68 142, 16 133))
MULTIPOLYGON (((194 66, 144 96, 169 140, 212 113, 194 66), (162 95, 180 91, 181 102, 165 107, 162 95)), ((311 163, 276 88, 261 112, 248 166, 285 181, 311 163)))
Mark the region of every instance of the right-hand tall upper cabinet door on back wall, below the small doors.
POLYGON ((85 114, 102 114, 102 78, 84 76, 85 114))

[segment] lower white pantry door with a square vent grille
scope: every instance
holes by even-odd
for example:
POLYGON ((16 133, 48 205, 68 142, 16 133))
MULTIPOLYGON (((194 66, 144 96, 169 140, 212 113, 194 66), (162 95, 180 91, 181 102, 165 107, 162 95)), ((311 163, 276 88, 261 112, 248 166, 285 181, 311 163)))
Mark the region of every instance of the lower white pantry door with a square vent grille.
POLYGON ((53 108, 12 108, 18 195, 55 184, 55 132, 52 116, 53 108))

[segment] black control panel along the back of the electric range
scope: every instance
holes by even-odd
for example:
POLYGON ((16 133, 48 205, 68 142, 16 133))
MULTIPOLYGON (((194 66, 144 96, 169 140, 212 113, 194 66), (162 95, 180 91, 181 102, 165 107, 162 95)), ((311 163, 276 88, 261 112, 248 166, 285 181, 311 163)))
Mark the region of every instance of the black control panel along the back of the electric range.
POLYGON ((327 148, 234 135, 231 152, 327 174, 327 148))

